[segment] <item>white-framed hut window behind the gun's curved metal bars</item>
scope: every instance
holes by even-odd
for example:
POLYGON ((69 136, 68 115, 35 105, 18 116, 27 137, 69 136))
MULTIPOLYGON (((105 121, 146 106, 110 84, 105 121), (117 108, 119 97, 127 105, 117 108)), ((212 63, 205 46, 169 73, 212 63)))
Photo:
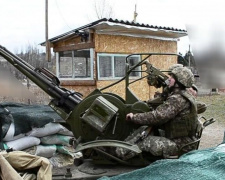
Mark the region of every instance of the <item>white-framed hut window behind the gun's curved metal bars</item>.
MULTIPOLYGON (((98 79, 120 79, 125 76, 127 55, 119 54, 98 54, 98 79)), ((128 59, 130 66, 140 61, 139 56, 131 56, 128 59)), ((135 71, 140 71, 137 67, 135 71)), ((132 72, 130 77, 140 77, 140 72, 132 72)))

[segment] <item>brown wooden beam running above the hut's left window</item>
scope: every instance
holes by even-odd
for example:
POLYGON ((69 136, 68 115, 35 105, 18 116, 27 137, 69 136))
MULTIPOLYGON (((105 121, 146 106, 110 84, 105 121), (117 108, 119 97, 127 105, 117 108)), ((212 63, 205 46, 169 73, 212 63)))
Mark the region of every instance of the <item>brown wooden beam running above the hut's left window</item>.
POLYGON ((71 51, 71 50, 79 50, 79 49, 90 49, 94 47, 95 47, 94 42, 87 42, 87 43, 80 43, 80 44, 63 46, 63 47, 55 47, 53 51, 54 52, 71 51))

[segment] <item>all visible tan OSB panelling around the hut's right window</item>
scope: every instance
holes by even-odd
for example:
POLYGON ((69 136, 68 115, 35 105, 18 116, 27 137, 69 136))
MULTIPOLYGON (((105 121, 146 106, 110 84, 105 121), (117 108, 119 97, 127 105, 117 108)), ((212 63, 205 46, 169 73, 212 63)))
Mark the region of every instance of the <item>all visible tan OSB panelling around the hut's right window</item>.
MULTIPOLYGON (((95 34, 95 51, 96 53, 177 53, 177 42, 163 41, 149 38, 135 38, 128 36, 114 36, 95 34)), ((153 56, 150 62, 157 68, 167 70, 172 64, 177 63, 175 56, 153 56)), ((143 67, 144 68, 144 67, 143 67)), ((97 88, 105 87, 115 81, 97 81, 97 88)), ((146 79, 138 81, 131 86, 132 91, 141 99, 147 100, 154 96, 155 89, 149 87, 146 79)), ((116 86, 106 89, 105 91, 116 93, 125 98, 125 84, 119 83, 116 86)))

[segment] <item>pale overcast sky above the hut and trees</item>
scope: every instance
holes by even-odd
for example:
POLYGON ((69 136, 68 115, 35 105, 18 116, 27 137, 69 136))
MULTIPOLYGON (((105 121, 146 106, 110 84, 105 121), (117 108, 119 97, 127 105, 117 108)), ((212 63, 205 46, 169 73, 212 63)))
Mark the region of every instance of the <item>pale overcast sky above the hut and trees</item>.
MULTIPOLYGON (((95 4, 104 0, 48 0, 49 38, 98 20, 95 4)), ((188 36, 178 41, 183 55, 189 45, 195 61, 209 84, 225 87, 224 0, 105 0, 113 18, 185 29, 188 36), (204 66, 203 66, 204 65, 204 66), (207 72, 204 75, 204 72, 207 72), (209 75, 210 74, 210 75, 209 75), (222 74, 222 75, 221 75, 222 74), (216 83, 215 83, 216 82, 216 83)), ((0 45, 13 53, 45 41, 45 0, 0 0, 0 45)))

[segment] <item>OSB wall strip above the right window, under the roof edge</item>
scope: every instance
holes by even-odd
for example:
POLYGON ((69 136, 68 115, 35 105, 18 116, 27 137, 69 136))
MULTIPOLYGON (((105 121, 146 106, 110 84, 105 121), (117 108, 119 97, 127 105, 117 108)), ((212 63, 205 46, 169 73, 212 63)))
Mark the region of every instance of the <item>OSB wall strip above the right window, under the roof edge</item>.
POLYGON ((177 42, 149 38, 95 34, 96 52, 140 53, 177 52, 177 42))

